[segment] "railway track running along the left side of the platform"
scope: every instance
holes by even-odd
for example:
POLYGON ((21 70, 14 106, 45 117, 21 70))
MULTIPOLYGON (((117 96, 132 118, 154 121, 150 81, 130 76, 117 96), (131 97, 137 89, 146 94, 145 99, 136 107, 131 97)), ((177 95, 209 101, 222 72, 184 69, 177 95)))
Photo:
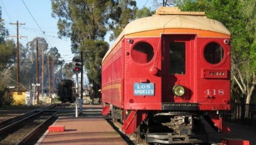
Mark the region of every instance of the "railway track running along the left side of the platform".
POLYGON ((40 129, 45 127, 56 115, 60 106, 50 105, 47 108, 34 110, 0 124, 0 145, 28 144, 40 129))

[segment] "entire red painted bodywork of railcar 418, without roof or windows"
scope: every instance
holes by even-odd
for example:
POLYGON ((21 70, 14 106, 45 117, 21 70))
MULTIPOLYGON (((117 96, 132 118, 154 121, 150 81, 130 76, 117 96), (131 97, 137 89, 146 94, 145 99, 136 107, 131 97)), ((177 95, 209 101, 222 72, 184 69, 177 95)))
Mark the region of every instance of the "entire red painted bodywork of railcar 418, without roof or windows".
POLYGON ((200 110, 230 110, 230 45, 224 40, 197 35, 125 38, 120 42, 122 49, 115 49, 102 66, 102 101, 119 108, 124 104, 127 110, 161 110, 161 103, 199 103, 200 110), (133 42, 129 44, 128 39, 133 42), (153 47, 151 61, 136 62, 132 58, 132 48, 139 42, 147 42, 153 47), (183 74, 170 74, 169 59, 175 57, 169 52, 170 42, 186 44, 183 74), (204 58, 203 50, 209 42, 217 42, 223 47, 220 63, 210 64, 204 58), (152 68, 156 69, 151 71, 152 68), (116 83, 120 86, 113 87, 116 83), (154 95, 134 95, 134 83, 154 83, 154 95), (177 84, 186 89, 182 97, 172 93, 177 84))

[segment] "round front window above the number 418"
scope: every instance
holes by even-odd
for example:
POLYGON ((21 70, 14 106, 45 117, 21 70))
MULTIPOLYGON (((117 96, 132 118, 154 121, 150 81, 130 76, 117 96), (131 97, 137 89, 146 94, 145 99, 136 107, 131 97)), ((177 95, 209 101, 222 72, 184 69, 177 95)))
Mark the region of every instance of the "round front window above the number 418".
POLYGON ((216 42, 210 42, 206 45, 203 56, 210 64, 218 64, 224 57, 223 47, 216 42))

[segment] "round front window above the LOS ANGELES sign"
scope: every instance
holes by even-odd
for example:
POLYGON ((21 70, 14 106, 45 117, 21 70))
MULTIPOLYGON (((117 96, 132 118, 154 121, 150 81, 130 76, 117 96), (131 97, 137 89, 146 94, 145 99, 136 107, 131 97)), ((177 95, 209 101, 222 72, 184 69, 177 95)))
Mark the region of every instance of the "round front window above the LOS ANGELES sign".
POLYGON ((139 42, 132 48, 132 59, 139 64, 146 64, 154 57, 154 49, 147 42, 139 42))

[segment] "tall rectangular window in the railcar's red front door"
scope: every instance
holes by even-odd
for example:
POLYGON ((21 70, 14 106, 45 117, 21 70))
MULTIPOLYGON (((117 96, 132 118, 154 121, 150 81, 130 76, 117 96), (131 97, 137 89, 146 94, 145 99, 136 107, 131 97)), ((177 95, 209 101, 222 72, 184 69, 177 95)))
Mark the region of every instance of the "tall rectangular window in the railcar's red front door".
POLYGON ((186 74, 186 43, 170 42, 170 74, 186 74))

